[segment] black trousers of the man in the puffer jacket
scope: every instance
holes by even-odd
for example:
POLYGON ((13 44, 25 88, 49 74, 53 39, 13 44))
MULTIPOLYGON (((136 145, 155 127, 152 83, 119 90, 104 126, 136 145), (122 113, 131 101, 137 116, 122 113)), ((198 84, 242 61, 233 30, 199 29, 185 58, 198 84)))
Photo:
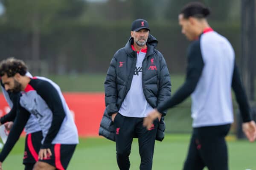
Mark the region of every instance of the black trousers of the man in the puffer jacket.
POLYGON ((116 127, 116 160, 119 169, 129 170, 131 143, 134 136, 137 136, 141 158, 140 170, 151 170, 158 119, 154 121, 150 130, 143 127, 143 118, 126 117, 120 113, 117 113, 113 123, 116 127))

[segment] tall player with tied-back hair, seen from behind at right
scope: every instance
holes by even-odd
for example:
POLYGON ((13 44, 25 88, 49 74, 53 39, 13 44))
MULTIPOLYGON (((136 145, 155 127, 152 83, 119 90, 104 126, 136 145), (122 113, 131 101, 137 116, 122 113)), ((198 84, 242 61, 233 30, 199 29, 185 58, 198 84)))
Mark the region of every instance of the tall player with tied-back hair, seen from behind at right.
POLYGON ((192 94, 193 133, 183 170, 228 170, 225 136, 233 123, 231 88, 236 94, 243 130, 252 142, 256 125, 235 62, 230 42, 209 26, 210 11, 202 3, 187 4, 179 14, 182 33, 192 41, 187 54, 186 81, 168 100, 144 119, 151 122, 163 110, 172 108, 192 94))

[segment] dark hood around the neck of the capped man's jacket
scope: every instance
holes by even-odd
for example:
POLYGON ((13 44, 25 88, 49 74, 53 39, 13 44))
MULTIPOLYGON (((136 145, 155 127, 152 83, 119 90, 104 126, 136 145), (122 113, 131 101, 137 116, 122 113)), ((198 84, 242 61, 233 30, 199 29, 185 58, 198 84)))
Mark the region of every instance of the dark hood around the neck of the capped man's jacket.
MULTIPOLYGON (((128 42, 125 45, 125 52, 127 54, 131 54, 134 51, 131 49, 131 45, 134 43, 134 38, 130 37, 128 42)), ((148 40, 147 40, 147 48, 148 48, 148 54, 154 53, 154 48, 156 48, 158 44, 158 41, 155 37, 153 37, 151 34, 148 35, 148 40)))

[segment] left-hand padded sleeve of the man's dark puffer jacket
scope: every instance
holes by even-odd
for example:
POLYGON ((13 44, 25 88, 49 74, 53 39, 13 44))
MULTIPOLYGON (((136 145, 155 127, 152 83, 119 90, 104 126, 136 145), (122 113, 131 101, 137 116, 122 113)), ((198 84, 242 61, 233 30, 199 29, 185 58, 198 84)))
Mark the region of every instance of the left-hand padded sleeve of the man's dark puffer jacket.
POLYGON ((107 77, 104 82, 105 87, 105 105, 109 116, 118 112, 116 105, 117 89, 116 89, 116 58, 113 57, 108 68, 107 77))

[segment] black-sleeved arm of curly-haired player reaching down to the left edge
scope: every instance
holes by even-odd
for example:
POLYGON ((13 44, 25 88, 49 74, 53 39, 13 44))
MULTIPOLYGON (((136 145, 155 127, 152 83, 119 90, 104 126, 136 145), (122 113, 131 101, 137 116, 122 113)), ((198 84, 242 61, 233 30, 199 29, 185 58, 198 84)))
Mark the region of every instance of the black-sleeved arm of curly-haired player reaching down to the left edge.
POLYGON ((26 111, 26 109, 19 106, 18 110, 19 111, 17 112, 17 116, 8 135, 6 144, 4 145, 0 153, 0 162, 3 162, 6 159, 6 157, 14 147, 15 143, 19 139, 20 134, 22 133, 23 128, 25 127, 26 122, 29 119, 30 113, 26 111))

